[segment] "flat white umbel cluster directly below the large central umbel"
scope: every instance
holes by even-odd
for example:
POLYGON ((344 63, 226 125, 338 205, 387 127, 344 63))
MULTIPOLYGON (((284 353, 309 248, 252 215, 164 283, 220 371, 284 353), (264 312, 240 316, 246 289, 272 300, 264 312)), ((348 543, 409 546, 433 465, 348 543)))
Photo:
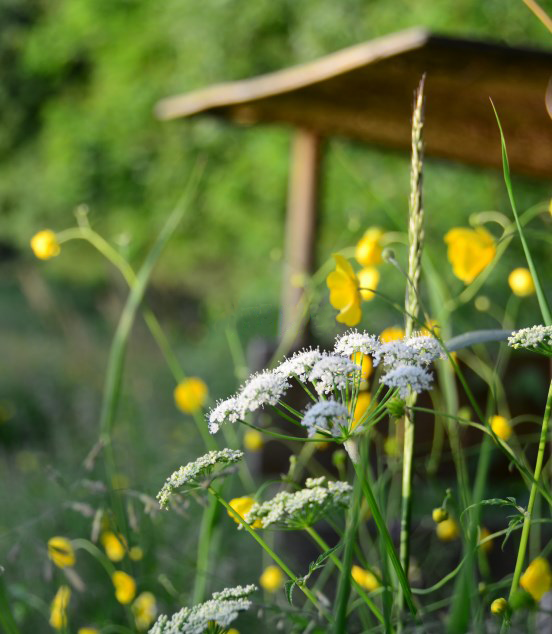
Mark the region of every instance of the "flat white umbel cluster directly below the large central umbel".
POLYGON ((244 519, 258 521, 262 528, 305 528, 331 511, 346 508, 352 487, 347 482, 326 482, 326 478, 307 478, 304 489, 282 491, 267 502, 254 504, 244 519))

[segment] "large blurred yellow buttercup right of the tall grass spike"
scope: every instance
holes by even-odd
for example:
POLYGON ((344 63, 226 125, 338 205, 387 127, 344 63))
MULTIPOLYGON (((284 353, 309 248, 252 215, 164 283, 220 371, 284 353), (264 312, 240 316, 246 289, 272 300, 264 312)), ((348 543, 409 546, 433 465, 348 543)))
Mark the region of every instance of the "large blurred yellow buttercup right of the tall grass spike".
POLYGON ((457 227, 445 235, 452 271, 464 284, 471 284, 496 255, 493 236, 482 227, 457 227))

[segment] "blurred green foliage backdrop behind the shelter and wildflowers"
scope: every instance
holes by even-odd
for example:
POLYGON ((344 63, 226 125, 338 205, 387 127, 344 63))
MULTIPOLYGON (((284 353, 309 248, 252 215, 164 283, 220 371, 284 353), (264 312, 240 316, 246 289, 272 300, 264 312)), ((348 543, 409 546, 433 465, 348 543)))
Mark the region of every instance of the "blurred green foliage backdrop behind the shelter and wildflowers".
MULTIPOLYGON (((90 535, 102 493, 82 464, 97 438, 109 344, 127 296, 117 271, 85 243, 39 262, 29 239, 46 227, 72 226, 75 209, 86 205, 92 227, 138 267, 204 160, 198 196, 156 267, 148 304, 184 369, 207 382, 213 400, 226 396, 246 372, 251 342, 277 335, 291 134, 209 118, 159 122, 154 105, 410 26, 550 45, 546 29, 513 0, 0 3, 0 565, 22 631, 46 631, 40 612, 55 587, 47 539, 90 535)), ((368 226, 406 229, 408 170, 406 154, 328 142, 319 264, 354 245, 368 226)), ((514 186, 520 209, 550 197, 549 183, 518 178, 514 186)), ((449 228, 467 226, 478 211, 510 213, 498 171, 428 160, 425 187, 428 254, 441 261, 449 228)), ((534 248, 549 262, 546 242, 534 248)), ((514 242, 484 289, 492 304, 505 305, 507 274, 523 265, 514 242)), ((444 275, 461 289, 450 270, 444 275)), ((391 267, 381 286, 402 299, 403 282, 391 267)), ((473 328, 473 315, 472 306, 461 312, 457 332, 473 328)), ((528 299, 519 325, 537 315, 536 300, 528 299)), ((313 332, 323 344, 337 332, 334 317, 321 293, 313 332)), ((495 324, 487 313, 477 320, 478 327, 495 324)), ((376 300, 361 325, 380 331, 393 323, 400 315, 376 300)), ((139 320, 115 438, 124 449, 123 488, 155 495, 174 468, 201 451, 191 419, 174 406, 173 387, 139 320)), ((161 521, 139 500, 136 507, 146 553, 142 585, 176 607, 193 574, 196 511, 161 521)), ((222 561, 210 571, 213 589, 239 579, 240 570, 247 583, 251 565, 247 558, 222 561)), ((113 611, 122 608, 98 604, 109 593, 100 577, 79 574, 87 584, 79 599, 83 623, 116 620, 113 611)))

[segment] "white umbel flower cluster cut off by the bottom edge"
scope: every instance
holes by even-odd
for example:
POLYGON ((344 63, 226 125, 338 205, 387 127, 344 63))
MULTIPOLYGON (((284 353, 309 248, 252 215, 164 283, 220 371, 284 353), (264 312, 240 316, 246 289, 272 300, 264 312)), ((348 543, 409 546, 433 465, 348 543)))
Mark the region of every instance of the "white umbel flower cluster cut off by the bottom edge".
POLYGON ((236 588, 226 588, 214 592, 209 601, 191 608, 182 608, 171 618, 160 616, 149 634, 203 634, 216 623, 221 631, 238 618, 238 614, 248 610, 252 603, 249 595, 257 590, 253 584, 236 588))

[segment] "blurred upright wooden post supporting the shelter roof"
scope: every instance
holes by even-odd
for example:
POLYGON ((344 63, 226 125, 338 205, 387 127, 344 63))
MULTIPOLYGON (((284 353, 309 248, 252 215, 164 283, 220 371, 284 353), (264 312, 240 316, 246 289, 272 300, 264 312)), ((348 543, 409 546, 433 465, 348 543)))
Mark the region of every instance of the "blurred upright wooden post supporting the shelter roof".
POLYGON ((314 270, 320 158, 320 136, 297 129, 291 148, 280 321, 280 340, 291 348, 301 345, 307 332, 303 281, 314 270))

